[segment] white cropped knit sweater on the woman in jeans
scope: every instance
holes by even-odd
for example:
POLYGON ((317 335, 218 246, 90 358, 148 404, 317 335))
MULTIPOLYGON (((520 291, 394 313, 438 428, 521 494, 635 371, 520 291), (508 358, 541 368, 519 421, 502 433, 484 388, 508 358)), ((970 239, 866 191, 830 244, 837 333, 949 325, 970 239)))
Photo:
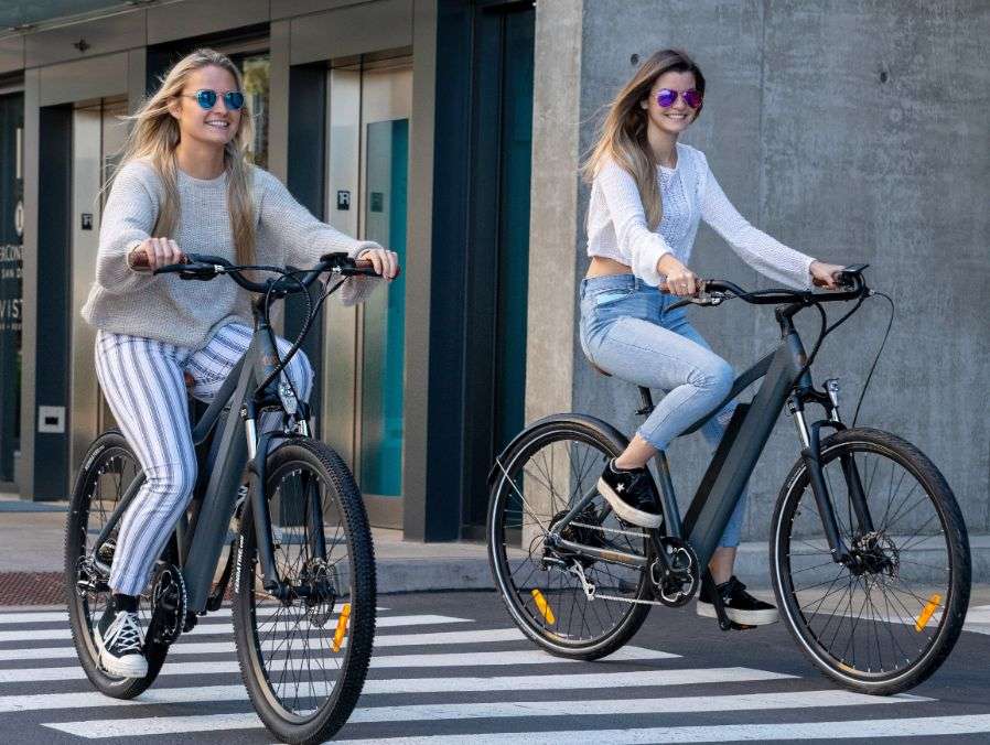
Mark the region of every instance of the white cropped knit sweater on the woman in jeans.
POLYGON ((614 162, 606 163, 591 186, 588 207, 588 255, 625 263, 647 284, 663 277, 657 261, 672 253, 689 264, 698 223, 703 219, 753 269, 775 282, 810 287, 811 257, 761 233, 739 214, 715 181, 704 153, 677 143, 674 169, 659 166, 664 217, 650 230, 633 176, 614 162))

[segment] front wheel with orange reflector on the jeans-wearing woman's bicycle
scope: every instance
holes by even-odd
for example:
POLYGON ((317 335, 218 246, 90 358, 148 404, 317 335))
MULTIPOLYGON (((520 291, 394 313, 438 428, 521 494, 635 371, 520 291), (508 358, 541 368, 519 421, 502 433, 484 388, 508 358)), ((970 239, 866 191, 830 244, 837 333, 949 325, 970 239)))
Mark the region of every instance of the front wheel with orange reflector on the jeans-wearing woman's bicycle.
POLYGON ((832 561, 799 461, 772 523, 782 617, 811 661, 840 684, 862 693, 905 691, 938 669, 962 630, 970 555, 959 506, 919 450, 879 430, 828 438, 821 467, 851 561, 832 561), (872 529, 850 497, 857 481, 872 529))

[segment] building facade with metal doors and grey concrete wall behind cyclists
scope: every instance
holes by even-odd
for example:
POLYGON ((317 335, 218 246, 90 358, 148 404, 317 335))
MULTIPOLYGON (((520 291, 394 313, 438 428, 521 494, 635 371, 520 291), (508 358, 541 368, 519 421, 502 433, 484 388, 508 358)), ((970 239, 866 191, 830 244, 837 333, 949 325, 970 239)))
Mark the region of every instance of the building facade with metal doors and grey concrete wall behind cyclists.
MULTIPOLYGON (((635 389, 598 377, 577 344, 578 169, 638 62, 680 46, 709 82, 687 141, 740 210, 795 248, 869 262, 897 303, 860 420, 917 443, 973 531, 990 527, 986 3, 34 6, 33 26, 0 32, 0 481, 23 498, 64 498, 110 423, 78 309, 119 117, 209 45, 244 71, 256 161, 318 217, 401 256, 388 293, 331 303, 310 336, 321 436, 352 464, 374 523, 480 538, 488 468, 525 422, 587 411, 635 427, 635 389)), ((766 284, 707 229, 696 257, 702 276, 766 284)), ((287 310, 287 334, 300 313, 287 310)), ((740 368, 774 343, 765 312, 696 317, 740 368)), ((822 350, 849 409, 885 322, 871 301, 822 350)), ((671 447, 684 501, 706 457, 699 438, 671 447)), ((765 537, 796 457, 784 422, 751 485, 747 538, 765 537)))

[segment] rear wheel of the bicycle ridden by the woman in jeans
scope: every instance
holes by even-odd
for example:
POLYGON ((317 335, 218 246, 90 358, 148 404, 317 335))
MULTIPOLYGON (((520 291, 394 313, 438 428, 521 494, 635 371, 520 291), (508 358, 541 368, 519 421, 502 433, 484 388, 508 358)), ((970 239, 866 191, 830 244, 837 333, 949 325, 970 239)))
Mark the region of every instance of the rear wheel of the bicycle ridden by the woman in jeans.
POLYGON ((650 606, 638 602, 652 596, 645 570, 567 555, 545 543, 551 525, 593 493, 562 537, 648 555, 646 532, 620 520, 598 494, 602 468, 624 446, 604 422, 569 414, 534 425, 495 464, 487 520, 492 574, 519 629, 553 655, 585 660, 611 655, 649 613, 650 606), (594 584, 594 600, 588 600, 578 566, 594 584))

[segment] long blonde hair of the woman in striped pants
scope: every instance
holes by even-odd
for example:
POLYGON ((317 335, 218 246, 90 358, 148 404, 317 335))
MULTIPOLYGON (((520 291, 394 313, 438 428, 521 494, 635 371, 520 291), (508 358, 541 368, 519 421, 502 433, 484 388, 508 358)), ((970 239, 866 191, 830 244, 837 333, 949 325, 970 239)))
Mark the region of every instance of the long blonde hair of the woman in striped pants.
MULTIPOLYGON (((151 163, 161 179, 164 193, 159 208, 155 236, 173 237, 179 228, 179 181, 175 147, 179 144, 179 121, 170 107, 182 94, 190 75, 203 67, 220 67, 244 90, 240 71, 230 58, 213 50, 196 50, 187 54, 169 71, 161 86, 141 108, 127 119, 133 127, 123 147, 121 163, 141 159, 151 163)), ((251 199, 251 164, 249 150, 255 128, 248 100, 240 109, 240 123, 234 137, 224 145, 224 170, 227 173, 227 207, 230 213, 230 231, 237 250, 238 263, 251 263, 255 257, 255 209, 251 199)))

